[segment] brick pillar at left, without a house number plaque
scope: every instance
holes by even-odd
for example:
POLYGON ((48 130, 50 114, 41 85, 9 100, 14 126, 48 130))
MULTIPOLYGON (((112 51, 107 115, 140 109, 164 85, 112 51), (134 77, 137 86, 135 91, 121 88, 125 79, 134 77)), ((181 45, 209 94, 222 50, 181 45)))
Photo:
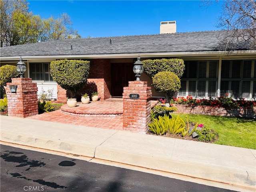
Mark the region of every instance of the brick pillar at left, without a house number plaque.
POLYGON ((36 83, 32 83, 31 78, 12 78, 12 82, 6 86, 8 116, 25 118, 37 115, 37 91, 36 83), (10 92, 9 85, 17 85, 15 93, 10 92))

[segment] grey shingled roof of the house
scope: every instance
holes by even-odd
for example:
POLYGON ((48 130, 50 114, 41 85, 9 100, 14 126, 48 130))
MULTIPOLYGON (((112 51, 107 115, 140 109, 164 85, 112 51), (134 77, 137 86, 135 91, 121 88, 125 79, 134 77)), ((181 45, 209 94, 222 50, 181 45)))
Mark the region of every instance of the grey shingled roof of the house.
MULTIPOLYGON (((102 55, 222 51, 225 31, 64 39, 0 48, 0 56, 102 55), (72 47, 72 48, 71 48, 72 47)), ((247 50, 239 44, 234 50, 247 50)))

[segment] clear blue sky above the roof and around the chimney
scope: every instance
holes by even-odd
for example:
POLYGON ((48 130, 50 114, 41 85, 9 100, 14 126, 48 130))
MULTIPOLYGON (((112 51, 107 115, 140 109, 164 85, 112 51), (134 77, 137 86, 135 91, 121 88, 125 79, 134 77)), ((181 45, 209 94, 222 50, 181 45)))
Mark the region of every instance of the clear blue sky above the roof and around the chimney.
POLYGON ((41 18, 67 13, 82 38, 159 34, 161 21, 176 21, 177 32, 220 30, 216 27, 221 1, 200 7, 199 0, 84 1, 28 0, 30 11, 41 18))

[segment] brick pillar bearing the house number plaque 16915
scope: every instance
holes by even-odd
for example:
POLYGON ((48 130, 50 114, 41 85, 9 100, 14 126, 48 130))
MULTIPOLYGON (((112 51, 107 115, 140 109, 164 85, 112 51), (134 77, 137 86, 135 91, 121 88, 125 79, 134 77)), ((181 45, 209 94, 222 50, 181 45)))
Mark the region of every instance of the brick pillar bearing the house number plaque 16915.
POLYGON ((129 81, 123 92, 123 130, 146 133, 150 122, 151 87, 146 81, 129 81), (138 99, 131 99, 130 94, 139 94, 138 99))

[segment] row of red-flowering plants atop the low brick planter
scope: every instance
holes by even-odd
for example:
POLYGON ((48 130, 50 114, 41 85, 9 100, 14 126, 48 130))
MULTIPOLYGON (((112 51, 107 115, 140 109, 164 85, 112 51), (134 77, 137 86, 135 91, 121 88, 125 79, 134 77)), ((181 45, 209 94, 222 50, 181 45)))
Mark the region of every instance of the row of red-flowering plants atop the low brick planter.
POLYGON ((242 100, 234 100, 226 96, 220 96, 218 98, 209 99, 194 99, 192 96, 172 98, 171 104, 185 104, 189 106, 194 105, 209 105, 218 107, 253 107, 256 106, 256 101, 246 101, 244 98, 242 100))

